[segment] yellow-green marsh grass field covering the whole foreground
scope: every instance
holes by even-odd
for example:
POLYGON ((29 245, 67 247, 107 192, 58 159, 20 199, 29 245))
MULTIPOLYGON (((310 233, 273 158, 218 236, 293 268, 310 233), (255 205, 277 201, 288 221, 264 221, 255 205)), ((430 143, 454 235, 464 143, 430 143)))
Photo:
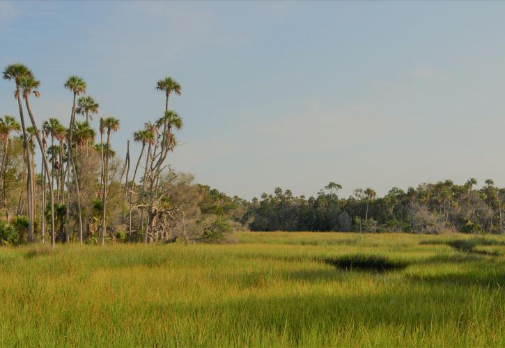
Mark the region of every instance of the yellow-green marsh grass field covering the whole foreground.
POLYGON ((2 346, 505 346, 505 237, 0 248, 2 346))

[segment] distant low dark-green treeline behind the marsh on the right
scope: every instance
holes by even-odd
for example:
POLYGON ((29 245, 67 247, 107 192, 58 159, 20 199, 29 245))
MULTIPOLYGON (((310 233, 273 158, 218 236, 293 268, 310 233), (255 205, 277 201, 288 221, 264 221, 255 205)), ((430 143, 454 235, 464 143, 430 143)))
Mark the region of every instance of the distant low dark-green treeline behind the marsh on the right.
POLYGON ((255 231, 503 233, 505 189, 492 180, 476 185, 475 179, 462 185, 445 180, 407 191, 394 187, 384 197, 373 189, 356 189, 341 198, 341 185, 330 182, 309 198, 278 187, 250 202, 214 190, 214 205, 207 209, 255 231))

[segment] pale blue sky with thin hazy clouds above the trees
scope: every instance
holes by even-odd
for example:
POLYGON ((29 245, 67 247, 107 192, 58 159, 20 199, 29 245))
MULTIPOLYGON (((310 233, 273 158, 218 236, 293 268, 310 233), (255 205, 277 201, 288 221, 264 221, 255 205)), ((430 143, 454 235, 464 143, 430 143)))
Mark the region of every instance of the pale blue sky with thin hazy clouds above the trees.
MULTIPOLYGON (((69 122, 63 83, 83 77, 122 156, 173 77, 169 162, 231 196, 505 186, 504 17, 502 1, 0 1, 0 67, 40 79, 40 123, 69 122)), ((13 89, 0 81, 0 115, 18 116, 13 89)))

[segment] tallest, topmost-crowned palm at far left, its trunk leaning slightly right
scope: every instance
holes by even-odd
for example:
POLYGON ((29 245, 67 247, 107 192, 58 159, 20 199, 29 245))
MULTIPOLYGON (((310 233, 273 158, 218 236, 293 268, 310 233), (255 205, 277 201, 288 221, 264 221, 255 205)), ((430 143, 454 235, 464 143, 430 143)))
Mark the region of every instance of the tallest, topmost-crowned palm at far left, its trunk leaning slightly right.
POLYGON ((26 134, 26 125, 24 124, 24 114, 23 114, 23 106, 21 103, 21 94, 20 94, 20 81, 23 77, 33 76, 31 70, 26 67, 26 65, 22 65, 20 63, 10 64, 3 70, 3 79, 6 80, 14 80, 16 84, 16 90, 14 92, 14 97, 17 99, 17 106, 20 110, 20 119, 21 119, 21 128, 23 131, 23 149, 24 149, 24 158, 26 160, 26 196, 28 198, 28 235, 29 237, 33 237, 33 193, 31 191, 33 181, 33 177, 31 176, 31 164, 28 160, 28 134, 26 134))

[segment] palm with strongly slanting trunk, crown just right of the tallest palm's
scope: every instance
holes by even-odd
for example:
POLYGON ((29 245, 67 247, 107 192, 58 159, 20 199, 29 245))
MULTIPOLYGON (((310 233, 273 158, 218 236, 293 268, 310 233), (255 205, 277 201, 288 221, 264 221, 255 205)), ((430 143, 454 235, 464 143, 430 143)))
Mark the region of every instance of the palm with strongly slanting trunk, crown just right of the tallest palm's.
MULTIPOLYGON (((47 156, 45 154, 44 145, 42 143, 42 139, 40 139, 40 134, 38 132, 37 123, 35 122, 35 118, 33 118, 33 113, 31 112, 29 95, 33 93, 36 97, 40 96, 37 88, 40 86, 40 81, 37 81, 33 75, 28 77, 23 77, 20 81, 20 86, 23 90, 23 98, 24 103, 26 104, 26 110, 28 111, 28 115, 30 116, 31 125, 33 127, 33 131, 35 133, 40 152, 42 152, 42 159, 44 161, 45 171, 47 176, 49 176, 49 162, 47 161, 47 156)), ((51 205, 51 245, 54 246, 55 242, 55 234, 54 234, 54 191, 53 188, 49 186, 49 204, 51 205)))

